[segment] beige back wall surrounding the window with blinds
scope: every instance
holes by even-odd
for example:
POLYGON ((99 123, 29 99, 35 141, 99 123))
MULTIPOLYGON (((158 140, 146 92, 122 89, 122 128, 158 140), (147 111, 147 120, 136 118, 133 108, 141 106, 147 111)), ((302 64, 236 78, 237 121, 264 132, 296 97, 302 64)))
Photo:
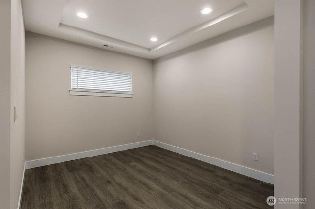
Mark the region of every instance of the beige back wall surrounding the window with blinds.
POLYGON ((27 32, 27 160, 151 140, 152 81, 151 60, 27 32), (70 64, 133 73, 134 97, 69 95, 70 64))

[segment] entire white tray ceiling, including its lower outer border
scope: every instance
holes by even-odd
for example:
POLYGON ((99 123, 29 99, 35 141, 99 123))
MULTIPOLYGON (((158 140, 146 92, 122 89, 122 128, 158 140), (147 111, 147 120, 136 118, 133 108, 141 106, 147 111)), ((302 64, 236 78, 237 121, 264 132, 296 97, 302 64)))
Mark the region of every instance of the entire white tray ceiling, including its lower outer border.
POLYGON ((274 0, 22 2, 27 31, 149 59, 274 14, 274 0), (201 14, 205 7, 212 8, 212 12, 201 14), (79 18, 77 12, 86 13, 88 18, 79 18), (151 37, 158 41, 151 42, 151 37))

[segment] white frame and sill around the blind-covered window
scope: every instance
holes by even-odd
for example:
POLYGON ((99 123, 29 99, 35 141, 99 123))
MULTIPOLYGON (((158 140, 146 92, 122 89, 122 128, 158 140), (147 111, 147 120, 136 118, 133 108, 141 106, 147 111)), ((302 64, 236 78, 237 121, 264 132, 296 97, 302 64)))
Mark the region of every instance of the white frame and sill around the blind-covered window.
POLYGON ((122 71, 113 71, 113 70, 105 70, 105 69, 100 69, 100 68, 91 68, 91 67, 86 67, 82 65, 70 65, 70 90, 69 94, 70 95, 77 95, 77 96, 100 96, 100 97, 127 97, 127 98, 132 98, 133 97, 133 92, 132 92, 132 82, 133 82, 133 74, 131 73, 126 73, 122 71), (82 69, 87 69, 87 70, 96 70, 96 71, 105 71, 105 72, 110 72, 110 73, 119 73, 119 74, 126 74, 131 76, 131 92, 120 92, 120 91, 106 91, 106 90, 84 90, 84 89, 72 89, 72 68, 82 68, 82 69))

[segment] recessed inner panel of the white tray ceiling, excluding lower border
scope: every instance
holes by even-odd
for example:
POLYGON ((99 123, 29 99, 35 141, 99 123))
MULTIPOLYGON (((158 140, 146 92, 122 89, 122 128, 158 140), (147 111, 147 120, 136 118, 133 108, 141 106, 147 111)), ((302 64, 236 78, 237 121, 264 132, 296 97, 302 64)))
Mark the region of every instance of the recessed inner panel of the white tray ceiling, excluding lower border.
POLYGON ((243 0, 68 0, 61 23, 152 48, 208 22, 237 6, 243 0), (200 11, 214 7, 209 15, 200 11), (89 18, 75 14, 85 12, 89 18), (158 37, 151 42, 152 36, 158 37))

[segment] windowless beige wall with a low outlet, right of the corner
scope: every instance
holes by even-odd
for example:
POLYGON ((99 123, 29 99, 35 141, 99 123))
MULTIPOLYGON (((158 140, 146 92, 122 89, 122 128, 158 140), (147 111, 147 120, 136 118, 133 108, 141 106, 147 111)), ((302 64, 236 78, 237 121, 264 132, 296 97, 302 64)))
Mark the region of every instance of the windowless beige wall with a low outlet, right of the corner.
POLYGON ((155 60, 154 139, 272 174, 273 39, 271 17, 155 60))

